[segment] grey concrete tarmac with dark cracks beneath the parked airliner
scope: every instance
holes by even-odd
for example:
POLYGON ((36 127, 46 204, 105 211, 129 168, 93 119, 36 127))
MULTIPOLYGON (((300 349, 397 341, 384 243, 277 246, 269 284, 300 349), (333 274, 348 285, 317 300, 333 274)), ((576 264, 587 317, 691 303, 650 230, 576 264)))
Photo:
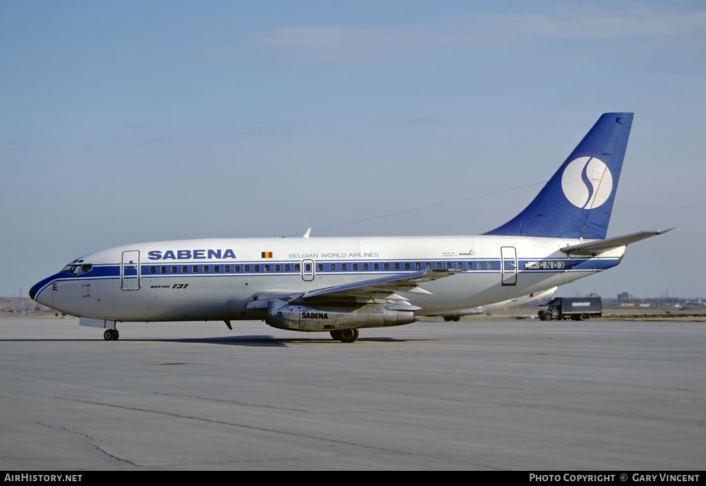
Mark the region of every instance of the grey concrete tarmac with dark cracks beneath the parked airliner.
POLYGON ((0 319, 3 470, 702 470, 706 323, 0 319))

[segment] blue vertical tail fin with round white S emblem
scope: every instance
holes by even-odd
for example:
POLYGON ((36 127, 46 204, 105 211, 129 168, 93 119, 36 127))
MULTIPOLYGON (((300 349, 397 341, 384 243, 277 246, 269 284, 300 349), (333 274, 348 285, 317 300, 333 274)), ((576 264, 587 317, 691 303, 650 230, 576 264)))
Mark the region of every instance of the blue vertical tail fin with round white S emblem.
POLYGON ((525 211, 485 234, 605 238, 632 123, 603 114, 525 211))

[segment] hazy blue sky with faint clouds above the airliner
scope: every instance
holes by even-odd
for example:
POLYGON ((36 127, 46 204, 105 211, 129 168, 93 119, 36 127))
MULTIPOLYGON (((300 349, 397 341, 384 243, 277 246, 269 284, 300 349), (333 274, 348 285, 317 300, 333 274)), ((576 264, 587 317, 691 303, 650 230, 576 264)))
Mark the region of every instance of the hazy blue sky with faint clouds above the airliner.
POLYGON ((563 290, 706 296, 702 1, 4 1, 0 63, 0 295, 130 242, 478 234, 627 111, 609 236, 677 228, 563 290))

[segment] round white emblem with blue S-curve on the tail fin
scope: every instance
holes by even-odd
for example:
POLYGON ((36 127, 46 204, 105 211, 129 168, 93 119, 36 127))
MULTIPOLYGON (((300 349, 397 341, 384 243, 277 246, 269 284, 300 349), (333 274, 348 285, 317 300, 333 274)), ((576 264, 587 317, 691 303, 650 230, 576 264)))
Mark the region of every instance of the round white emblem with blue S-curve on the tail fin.
POLYGON ((613 176, 602 160, 580 157, 564 169, 561 189, 577 208, 593 209, 608 201, 613 190, 613 176))

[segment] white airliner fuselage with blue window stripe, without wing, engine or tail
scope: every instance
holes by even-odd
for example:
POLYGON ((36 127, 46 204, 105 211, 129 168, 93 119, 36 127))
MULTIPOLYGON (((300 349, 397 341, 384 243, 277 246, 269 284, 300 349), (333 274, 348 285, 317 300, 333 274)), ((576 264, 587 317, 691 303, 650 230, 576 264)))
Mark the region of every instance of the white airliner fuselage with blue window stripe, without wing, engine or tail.
POLYGON ((619 263, 625 247, 568 256, 578 239, 517 236, 191 239, 114 247, 35 285, 35 300, 113 321, 259 319, 249 304, 389 275, 455 274, 400 297, 443 314, 539 292, 619 263), (88 270, 90 266, 90 270, 88 270))

